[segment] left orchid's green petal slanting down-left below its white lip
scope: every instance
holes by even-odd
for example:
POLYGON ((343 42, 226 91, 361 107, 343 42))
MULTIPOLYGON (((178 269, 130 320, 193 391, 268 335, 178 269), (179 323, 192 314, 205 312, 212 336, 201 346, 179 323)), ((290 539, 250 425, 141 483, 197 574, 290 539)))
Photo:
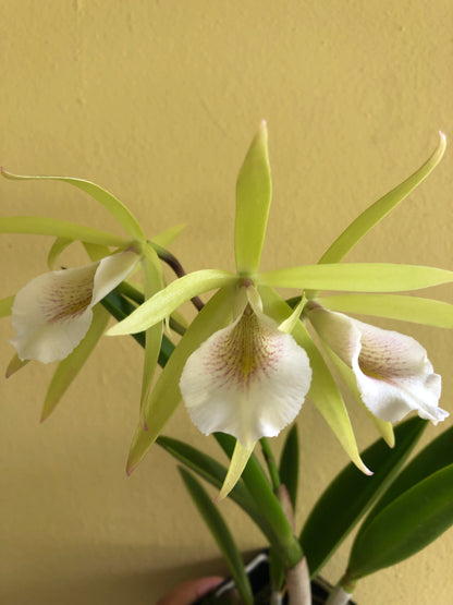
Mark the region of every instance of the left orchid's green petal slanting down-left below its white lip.
POLYGON ((93 322, 85 338, 68 358, 59 363, 53 378, 50 382, 44 402, 41 422, 52 413, 60 399, 82 370, 84 363, 102 336, 109 318, 110 315, 102 306, 96 305, 93 308, 93 322))

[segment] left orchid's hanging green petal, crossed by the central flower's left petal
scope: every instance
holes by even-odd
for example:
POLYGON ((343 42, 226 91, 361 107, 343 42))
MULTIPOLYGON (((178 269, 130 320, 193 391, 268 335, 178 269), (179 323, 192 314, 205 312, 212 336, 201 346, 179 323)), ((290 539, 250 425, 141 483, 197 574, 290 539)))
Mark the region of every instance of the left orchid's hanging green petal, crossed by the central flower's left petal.
MULTIPOLYGON (((159 292, 162 285, 161 266, 156 252, 146 246, 146 255, 142 259, 142 269, 144 276, 145 298, 148 300, 159 292)), ((160 344, 162 342, 162 322, 148 328, 145 332, 145 356, 142 378, 140 410, 144 410, 149 390, 152 384, 156 366, 158 363, 160 344)))

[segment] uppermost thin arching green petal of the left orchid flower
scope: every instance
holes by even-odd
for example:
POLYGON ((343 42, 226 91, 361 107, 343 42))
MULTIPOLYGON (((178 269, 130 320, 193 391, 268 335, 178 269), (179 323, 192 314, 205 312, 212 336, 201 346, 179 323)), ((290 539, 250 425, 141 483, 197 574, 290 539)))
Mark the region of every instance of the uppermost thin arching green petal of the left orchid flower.
POLYGON ((26 177, 20 174, 12 174, 1 169, 3 177, 7 179, 12 179, 13 181, 62 181, 63 183, 69 183, 91 197, 97 202, 102 204, 111 215, 122 225, 122 227, 127 231, 133 240, 144 240, 145 235, 139 226, 139 222, 134 217, 134 215, 122 204, 114 195, 100 187, 99 185, 91 183, 90 181, 85 181, 83 179, 72 179, 69 177, 26 177))

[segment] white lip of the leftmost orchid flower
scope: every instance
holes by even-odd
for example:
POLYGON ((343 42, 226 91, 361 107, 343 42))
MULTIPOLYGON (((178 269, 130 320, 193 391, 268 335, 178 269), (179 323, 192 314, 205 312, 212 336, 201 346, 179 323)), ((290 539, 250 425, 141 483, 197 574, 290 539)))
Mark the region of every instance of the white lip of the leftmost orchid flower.
POLYGON ((12 306, 21 360, 49 363, 66 358, 85 337, 93 306, 134 269, 139 256, 124 251, 76 269, 40 275, 20 290, 12 306))

